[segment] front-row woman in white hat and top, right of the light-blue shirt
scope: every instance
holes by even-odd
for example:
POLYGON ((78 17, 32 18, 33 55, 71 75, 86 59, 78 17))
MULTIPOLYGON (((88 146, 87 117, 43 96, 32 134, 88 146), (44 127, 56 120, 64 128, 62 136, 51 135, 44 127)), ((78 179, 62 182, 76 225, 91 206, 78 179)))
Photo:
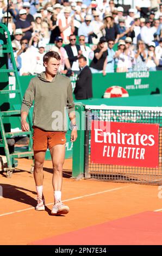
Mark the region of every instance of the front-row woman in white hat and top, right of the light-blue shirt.
POLYGON ((126 43, 119 41, 118 50, 115 52, 117 62, 116 72, 128 72, 128 56, 126 51, 126 43))

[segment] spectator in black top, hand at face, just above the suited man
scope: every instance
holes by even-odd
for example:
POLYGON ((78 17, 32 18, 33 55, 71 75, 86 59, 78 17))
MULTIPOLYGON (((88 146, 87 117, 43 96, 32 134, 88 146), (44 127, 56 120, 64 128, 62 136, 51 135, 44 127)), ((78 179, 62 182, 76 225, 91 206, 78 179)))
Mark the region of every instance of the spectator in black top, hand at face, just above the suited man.
POLYGON ((105 68, 107 66, 107 56, 108 56, 108 46, 104 36, 100 38, 97 48, 94 51, 95 56, 90 64, 90 69, 92 73, 103 73, 105 75, 105 68))

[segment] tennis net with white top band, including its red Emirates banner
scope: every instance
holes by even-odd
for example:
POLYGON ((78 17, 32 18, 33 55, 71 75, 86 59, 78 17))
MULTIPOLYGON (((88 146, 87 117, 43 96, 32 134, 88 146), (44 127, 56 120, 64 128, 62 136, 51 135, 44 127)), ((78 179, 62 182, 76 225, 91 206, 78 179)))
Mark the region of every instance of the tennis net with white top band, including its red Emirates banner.
MULTIPOLYGON (((85 106, 86 111, 86 131, 85 131, 85 157, 84 169, 85 177, 104 181, 137 182, 143 184, 161 184, 162 181, 162 107, 125 107, 125 106, 85 106), (101 133, 102 129, 94 129, 95 124, 110 124, 113 133, 101 133), (143 124, 143 125, 142 125, 143 124), (116 133, 115 133, 116 129, 116 133), (140 129, 140 132, 136 132, 140 129), (126 131, 129 138, 123 141, 124 148, 121 147, 119 137, 120 132, 126 131), (129 133, 128 133, 129 132, 129 133), (132 133, 131 133, 132 132, 132 133), (134 132, 134 133, 133 133, 134 132), (143 135, 143 133, 146 133, 143 135), (131 133, 131 136, 130 136, 131 133), (139 135, 140 133, 140 135, 139 135), (150 133, 150 134, 149 134, 150 133), (148 147, 151 142, 147 141, 148 136, 154 134, 157 139, 154 147, 148 147), (132 135, 134 134, 134 135, 132 135), (97 137, 98 135, 98 137, 97 137), (147 136, 148 135, 148 136, 147 136), (133 148, 131 144, 133 136, 142 138, 142 149, 138 141, 138 146, 134 150, 138 151, 134 156, 131 155, 133 148), (141 136, 141 137, 139 137, 141 136), (104 139, 105 140, 104 140, 104 139), (118 141, 112 140, 119 138, 118 141), (99 143, 96 143, 99 142, 99 143), (104 142, 104 143, 103 143, 104 142), (148 142, 148 143, 146 143, 148 142), (114 143, 114 144, 113 144, 114 143), (102 145, 103 144, 103 145, 102 145), (129 147, 127 147, 129 144, 129 147), (111 146, 113 145, 113 146, 111 146), (147 147, 146 147, 147 145, 147 147), (101 149, 101 147, 104 147, 101 149), (111 147, 112 148, 111 150, 111 147), (109 148, 109 153, 108 153, 109 148), (123 155, 120 150, 125 150, 123 155), (138 148, 138 149, 137 149, 138 148), (99 151, 101 150, 101 151, 99 151), (113 151, 118 152, 114 153, 113 151), (140 153, 143 150, 142 155, 140 153), (151 150, 151 151, 150 151, 151 150), (111 151, 111 152, 110 152, 111 151), (127 152, 129 151, 129 152, 127 152), (129 154, 128 154, 129 153, 129 154), (141 156, 140 157, 138 156, 141 156), (128 157, 129 156, 129 157, 128 157), (137 156, 137 157, 136 157, 137 156), (144 157, 145 156, 145 157, 144 157), (137 158, 137 159, 136 159, 137 158)), ((97 126, 98 127, 98 126, 97 126)), ((102 131, 103 132, 103 131, 102 131)), ((152 137, 154 138, 154 137, 152 137)), ((140 141, 141 142, 141 141, 140 141)), ((134 143, 135 144, 135 143, 134 143)), ((122 145, 123 146, 123 145, 122 145)))

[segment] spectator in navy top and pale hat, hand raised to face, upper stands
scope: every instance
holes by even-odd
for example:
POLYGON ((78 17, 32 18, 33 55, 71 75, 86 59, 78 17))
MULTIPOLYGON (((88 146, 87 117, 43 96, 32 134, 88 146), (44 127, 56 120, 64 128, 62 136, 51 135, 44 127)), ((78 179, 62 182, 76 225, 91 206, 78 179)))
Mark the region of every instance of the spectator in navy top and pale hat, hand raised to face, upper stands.
POLYGON ((104 25, 100 29, 101 31, 103 31, 103 34, 105 31, 105 38, 107 39, 107 41, 110 39, 115 41, 116 38, 119 38, 119 29, 114 23, 114 18, 110 13, 104 14, 104 25))

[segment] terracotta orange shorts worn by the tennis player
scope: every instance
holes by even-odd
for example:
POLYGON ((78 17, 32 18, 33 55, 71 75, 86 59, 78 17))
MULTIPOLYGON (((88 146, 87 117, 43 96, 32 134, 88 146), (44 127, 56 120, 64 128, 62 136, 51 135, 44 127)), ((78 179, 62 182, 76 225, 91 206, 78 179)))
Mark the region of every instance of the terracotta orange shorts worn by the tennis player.
POLYGON ((33 126, 33 150, 41 151, 51 149, 58 144, 65 144, 65 132, 60 131, 45 131, 39 127, 33 126))

